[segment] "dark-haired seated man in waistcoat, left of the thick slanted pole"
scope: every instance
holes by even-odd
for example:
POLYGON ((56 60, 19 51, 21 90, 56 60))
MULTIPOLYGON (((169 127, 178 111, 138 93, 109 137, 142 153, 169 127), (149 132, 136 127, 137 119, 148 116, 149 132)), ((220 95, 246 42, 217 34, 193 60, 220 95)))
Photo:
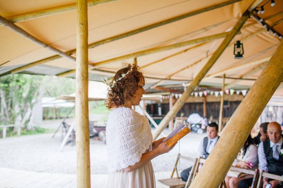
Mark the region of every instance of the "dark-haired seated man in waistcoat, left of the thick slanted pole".
MULTIPOLYGON (((208 157, 208 155, 210 154, 210 152, 212 151, 213 147, 215 146, 219 136, 217 135, 218 133, 218 125, 216 123, 210 123, 208 124, 207 128, 206 128, 206 133, 207 133, 207 137, 204 137, 201 142, 200 145, 198 147, 198 157, 202 157, 204 159, 206 159, 208 157)), ((187 168, 185 170, 183 170, 181 172, 181 177, 183 181, 187 181, 189 175, 190 175, 190 171, 191 171, 192 167, 187 168)))

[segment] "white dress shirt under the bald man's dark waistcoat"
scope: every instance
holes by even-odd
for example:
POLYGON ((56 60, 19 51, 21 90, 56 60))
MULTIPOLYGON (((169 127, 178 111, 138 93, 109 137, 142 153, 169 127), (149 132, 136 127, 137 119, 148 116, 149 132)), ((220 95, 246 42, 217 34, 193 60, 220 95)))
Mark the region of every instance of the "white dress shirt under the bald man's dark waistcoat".
MULTIPOLYGON (((279 153, 281 150, 282 143, 283 143, 283 138, 281 137, 279 142, 276 143, 276 145, 279 146, 278 147, 279 153)), ((272 150, 273 150, 273 145, 274 143, 270 141, 270 147, 272 147, 272 150)), ((259 143, 258 155, 259 155, 259 171, 264 170, 264 172, 268 172, 268 164, 264 153, 263 142, 259 143)))

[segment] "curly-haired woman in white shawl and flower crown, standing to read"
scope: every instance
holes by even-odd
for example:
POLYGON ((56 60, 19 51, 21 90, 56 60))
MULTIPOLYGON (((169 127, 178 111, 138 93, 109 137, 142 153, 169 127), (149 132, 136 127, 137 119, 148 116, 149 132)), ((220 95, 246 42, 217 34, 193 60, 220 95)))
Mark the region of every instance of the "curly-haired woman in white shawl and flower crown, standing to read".
POLYGON ((118 70, 109 84, 106 107, 112 109, 106 126, 108 187, 155 187, 150 160, 169 152, 164 138, 152 142, 149 121, 131 109, 145 93, 139 67, 128 64, 118 70))

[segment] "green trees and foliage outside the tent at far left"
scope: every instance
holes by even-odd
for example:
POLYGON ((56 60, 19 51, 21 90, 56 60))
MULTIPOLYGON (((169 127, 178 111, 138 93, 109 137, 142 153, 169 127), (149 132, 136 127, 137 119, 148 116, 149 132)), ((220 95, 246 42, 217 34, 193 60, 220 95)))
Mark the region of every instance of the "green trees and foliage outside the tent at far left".
POLYGON ((75 92, 71 78, 12 74, 0 77, 0 125, 29 128, 34 103, 43 96, 58 97, 75 92))

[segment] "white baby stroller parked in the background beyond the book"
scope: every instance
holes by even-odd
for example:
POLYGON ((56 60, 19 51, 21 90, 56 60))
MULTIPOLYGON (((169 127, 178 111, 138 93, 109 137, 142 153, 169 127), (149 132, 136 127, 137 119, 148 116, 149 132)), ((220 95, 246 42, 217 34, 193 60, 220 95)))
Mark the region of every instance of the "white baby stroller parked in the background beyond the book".
POLYGON ((207 119, 201 117, 198 113, 192 113, 187 122, 191 125, 191 130, 197 132, 198 134, 202 134, 205 126, 207 126, 207 119))

